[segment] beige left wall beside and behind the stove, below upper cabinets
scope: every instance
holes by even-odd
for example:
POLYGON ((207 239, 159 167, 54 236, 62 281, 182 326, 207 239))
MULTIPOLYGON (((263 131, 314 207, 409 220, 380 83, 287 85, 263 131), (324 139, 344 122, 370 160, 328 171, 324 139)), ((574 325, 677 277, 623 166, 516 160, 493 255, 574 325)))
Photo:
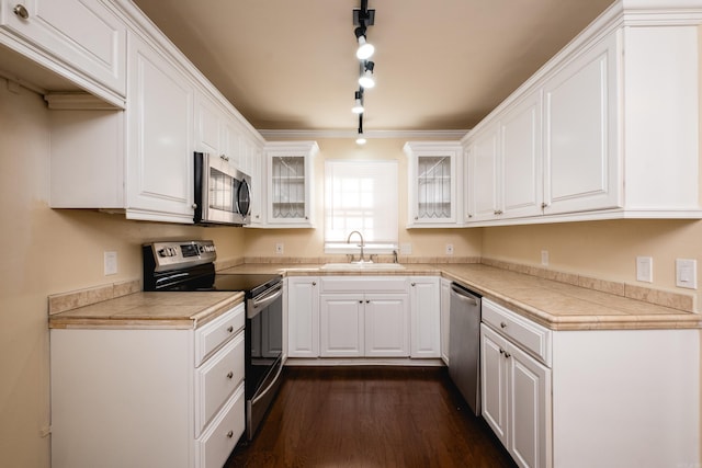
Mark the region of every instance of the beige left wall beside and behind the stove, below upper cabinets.
POLYGON ((49 118, 44 100, 0 79, 0 466, 48 467, 47 296, 141 277, 140 244, 214 239, 220 259, 244 255, 244 229, 127 221, 47 207, 49 118), (116 251, 118 274, 103 275, 116 251))

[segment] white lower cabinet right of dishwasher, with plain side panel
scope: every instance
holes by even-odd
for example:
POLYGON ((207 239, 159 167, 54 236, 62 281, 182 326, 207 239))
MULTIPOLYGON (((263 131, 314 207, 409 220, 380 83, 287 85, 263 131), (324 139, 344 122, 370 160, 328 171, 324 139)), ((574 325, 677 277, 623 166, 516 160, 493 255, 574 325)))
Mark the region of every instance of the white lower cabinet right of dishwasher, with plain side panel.
POLYGON ((702 463, 699 330, 552 331, 483 298, 483 418, 521 467, 702 463))

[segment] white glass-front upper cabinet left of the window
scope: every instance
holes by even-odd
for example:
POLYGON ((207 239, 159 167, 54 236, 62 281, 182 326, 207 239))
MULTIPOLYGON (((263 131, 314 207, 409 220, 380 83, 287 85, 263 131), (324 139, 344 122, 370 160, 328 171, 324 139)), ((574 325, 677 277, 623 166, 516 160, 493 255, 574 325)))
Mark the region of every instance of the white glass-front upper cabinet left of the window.
POLYGON ((314 226, 313 159, 318 150, 315 141, 265 144, 268 226, 314 226))

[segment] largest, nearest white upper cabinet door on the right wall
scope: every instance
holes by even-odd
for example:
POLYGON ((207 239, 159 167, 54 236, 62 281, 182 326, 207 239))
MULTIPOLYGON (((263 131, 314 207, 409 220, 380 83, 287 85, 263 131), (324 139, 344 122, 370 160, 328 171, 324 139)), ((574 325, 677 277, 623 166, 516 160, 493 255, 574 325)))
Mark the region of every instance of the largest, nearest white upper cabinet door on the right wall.
POLYGON ((544 85, 547 214, 622 206, 616 58, 616 35, 611 34, 544 85))

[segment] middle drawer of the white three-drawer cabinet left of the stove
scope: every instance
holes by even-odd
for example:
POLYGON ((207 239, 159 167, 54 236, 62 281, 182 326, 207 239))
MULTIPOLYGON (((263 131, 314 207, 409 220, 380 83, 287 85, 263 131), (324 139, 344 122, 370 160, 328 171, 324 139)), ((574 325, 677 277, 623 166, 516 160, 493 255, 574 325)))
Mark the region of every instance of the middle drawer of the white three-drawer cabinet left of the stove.
POLYGON ((244 380, 244 331, 195 370, 195 436, 244 380))

